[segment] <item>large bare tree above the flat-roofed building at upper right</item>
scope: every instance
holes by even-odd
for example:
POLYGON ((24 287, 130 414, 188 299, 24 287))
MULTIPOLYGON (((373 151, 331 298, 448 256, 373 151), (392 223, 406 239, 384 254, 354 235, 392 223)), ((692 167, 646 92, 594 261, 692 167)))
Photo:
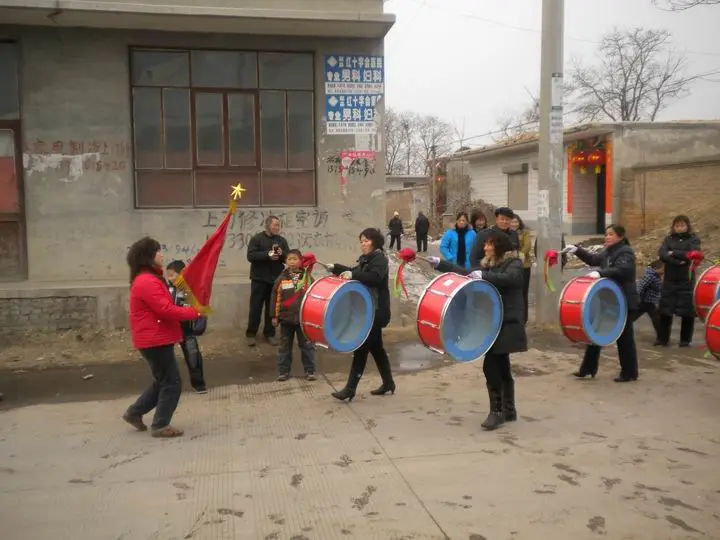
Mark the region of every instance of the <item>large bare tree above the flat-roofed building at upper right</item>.
POLYGON ((574 60, 574 112, 580 121, 654 121, 672 101, 690 93, 698 76, 684 74, 666 30, 615 29, 601 40, 596 65, 574 60))

